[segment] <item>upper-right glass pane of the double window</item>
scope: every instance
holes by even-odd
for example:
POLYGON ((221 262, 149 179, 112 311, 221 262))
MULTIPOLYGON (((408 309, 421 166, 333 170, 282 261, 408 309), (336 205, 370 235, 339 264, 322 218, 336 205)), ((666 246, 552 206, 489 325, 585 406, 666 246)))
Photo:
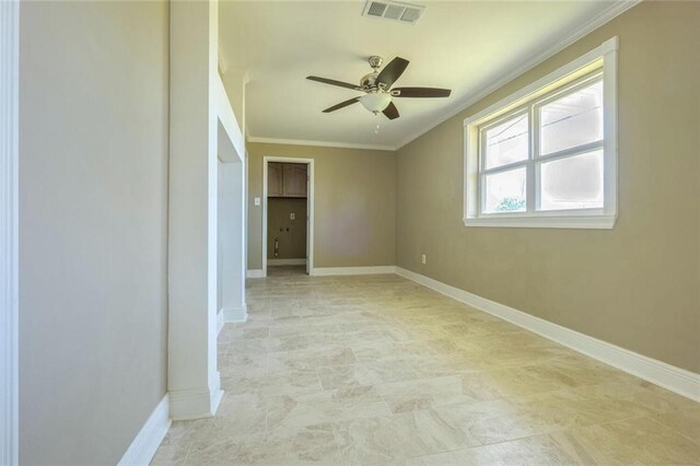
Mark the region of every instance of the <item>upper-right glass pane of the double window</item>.
POLYGON ((603 139, 603 81, 540 108, 541 154, 603 139))

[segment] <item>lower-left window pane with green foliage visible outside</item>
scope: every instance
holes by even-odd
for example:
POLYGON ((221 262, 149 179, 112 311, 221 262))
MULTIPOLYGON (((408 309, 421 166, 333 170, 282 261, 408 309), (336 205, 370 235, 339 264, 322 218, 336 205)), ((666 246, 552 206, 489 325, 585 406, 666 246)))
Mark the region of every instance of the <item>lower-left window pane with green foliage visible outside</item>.
POLYGON ((483 211, 524 212, 525 211, 525 168, 486 175, 483 211))

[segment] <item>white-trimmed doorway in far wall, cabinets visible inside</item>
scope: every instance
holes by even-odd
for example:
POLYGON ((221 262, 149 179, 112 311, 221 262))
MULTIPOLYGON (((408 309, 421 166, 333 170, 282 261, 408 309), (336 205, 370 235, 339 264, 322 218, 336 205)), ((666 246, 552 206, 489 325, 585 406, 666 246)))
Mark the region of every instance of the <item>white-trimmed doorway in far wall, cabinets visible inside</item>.
POLYGON ((262 276, 313 275, 313 261, 314 160, 266 156, 262 159, 262 276))

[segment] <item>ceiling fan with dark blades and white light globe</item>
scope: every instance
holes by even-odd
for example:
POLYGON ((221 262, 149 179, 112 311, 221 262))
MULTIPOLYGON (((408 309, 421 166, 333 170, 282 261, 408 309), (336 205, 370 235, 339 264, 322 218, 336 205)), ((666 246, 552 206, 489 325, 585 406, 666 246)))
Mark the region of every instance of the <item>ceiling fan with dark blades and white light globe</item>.
POLYGON ((400 78, 408 67, 408 60, 401 57, 396 57, 389 63, 384 67, 380 72, 382 57, 376 55, 368 59, 372 72, 365 74, 360 80, 360 85, 350 84, 349 82, 336 81, 327 78, 319 77, 306 77, 306 79, 325 84, 337 85, 340 88, 352 89, 354 91, 364 92, 364 95, 350 98, 341 102, 332 107, 328 107, 324 110, 325 114, 338 110, 354 103, 361 103, 364 108, 378 114, 382 112, 388 119, 395 119, 399 117, 398 108, 392 102, 393 97, 447 97, 452 92, 448 89, 439 88, 392 88, 394 82, 400 78))

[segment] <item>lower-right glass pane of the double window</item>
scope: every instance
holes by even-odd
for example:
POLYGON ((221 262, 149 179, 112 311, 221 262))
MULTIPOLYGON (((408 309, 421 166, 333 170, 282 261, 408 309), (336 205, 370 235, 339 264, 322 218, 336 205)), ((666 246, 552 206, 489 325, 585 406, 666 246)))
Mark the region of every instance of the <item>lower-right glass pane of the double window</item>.
POLYGON ((603 207, 603 151, 540 165, 540 210, 603 207))

